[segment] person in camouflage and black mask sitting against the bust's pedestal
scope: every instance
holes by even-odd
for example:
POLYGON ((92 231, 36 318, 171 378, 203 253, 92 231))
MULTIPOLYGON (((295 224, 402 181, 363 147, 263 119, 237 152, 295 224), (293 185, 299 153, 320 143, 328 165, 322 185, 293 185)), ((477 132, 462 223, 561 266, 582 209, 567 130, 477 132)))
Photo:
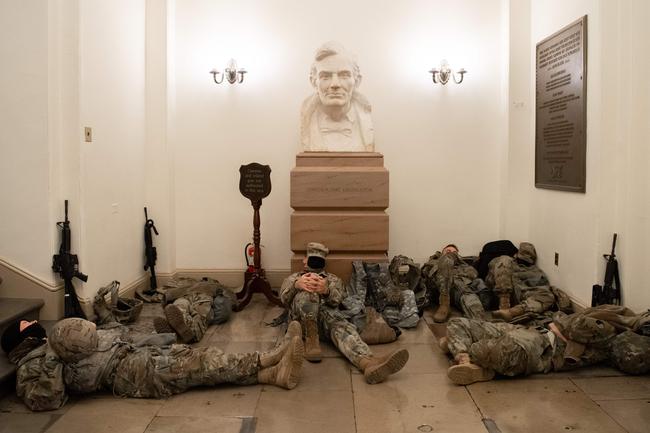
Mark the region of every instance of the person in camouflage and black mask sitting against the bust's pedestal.
POLYGON ((383 382, 404 367, 409 353, 406 349, 399 349, 383 357, 372 354, 357 328, 339 309, 344 300, 344 288, 339 277, 325 272, 328 253, 323 244, 310 242, 305 269, 290 275, 280 289, 280 299, 291 318, 298 320, 304 328, 305 358, 312 362, 320 361, 319 338, 329 338, 363 372, 367 383, 383 382))

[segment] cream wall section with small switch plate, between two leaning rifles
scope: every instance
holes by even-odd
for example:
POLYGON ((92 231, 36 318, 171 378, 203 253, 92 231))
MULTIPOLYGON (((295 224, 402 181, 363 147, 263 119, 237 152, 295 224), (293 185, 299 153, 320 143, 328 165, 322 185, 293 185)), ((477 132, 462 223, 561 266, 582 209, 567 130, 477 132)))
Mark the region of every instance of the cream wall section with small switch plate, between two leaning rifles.
MULTIPOLYGON (((83 270, 89 297, 143 274, 145 204, 144 1, 80 2, 83 270)), ((81 139, 81 137, 80 137, 81 139)))

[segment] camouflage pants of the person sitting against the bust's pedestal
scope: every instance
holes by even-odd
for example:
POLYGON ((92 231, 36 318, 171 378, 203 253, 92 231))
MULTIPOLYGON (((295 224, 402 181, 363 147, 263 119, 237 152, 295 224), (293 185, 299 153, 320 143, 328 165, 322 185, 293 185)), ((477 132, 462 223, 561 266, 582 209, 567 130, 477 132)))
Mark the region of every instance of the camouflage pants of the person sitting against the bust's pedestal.
POLYGON ((318 322, 320 338, 329 337, 343 356, 357 368, 360 367, 362 358, 372 355, 368 345, 359 336, 357 328, 338 308, 321 305, 318 294, 304 290, 296 293, 291 303, 291 317, 303 326, 305 320, 315 318, 318 322))

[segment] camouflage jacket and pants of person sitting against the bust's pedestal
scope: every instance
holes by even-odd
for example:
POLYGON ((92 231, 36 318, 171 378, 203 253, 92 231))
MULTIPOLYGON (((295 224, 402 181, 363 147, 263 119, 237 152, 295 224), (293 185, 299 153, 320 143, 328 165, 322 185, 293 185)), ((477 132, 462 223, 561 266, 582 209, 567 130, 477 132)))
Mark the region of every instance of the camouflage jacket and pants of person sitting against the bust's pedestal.
POLYGON ((296 272, 282 283, 280 299, 288 308, 293 320, 304 323, 307 319, 318 322, 319 335, 327 336, 352 364, 361 369, 361 359, 372 356, 366 343, 361 340, 357 328, 339 310, 343 301, 343 282, 328 272, 320 272, 327 278, 328 294, 320 296, 296 287, 296 280, 308 271, 296 272))

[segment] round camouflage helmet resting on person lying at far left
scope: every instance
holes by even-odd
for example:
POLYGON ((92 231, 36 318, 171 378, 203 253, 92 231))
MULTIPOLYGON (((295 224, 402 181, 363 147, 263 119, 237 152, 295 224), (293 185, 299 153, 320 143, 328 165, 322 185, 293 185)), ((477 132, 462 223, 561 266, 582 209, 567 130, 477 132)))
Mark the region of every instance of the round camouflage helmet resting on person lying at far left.
POLYGON ((94 323, 71 317, 52 327, 48 342, 64 362, 77 362, 95 351, 98 340, 94 323))

